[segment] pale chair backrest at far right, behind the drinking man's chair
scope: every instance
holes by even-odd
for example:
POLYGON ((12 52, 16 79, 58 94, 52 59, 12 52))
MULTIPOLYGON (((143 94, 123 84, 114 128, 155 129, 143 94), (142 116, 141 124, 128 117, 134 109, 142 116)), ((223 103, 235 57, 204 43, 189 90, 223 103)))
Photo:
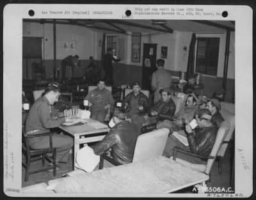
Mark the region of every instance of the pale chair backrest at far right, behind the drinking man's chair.
POLYGON ((220 111, 221 116, 227 121, 230 125, 230 129, 224 139, 225 143, 221 145, 220 151, 218 152, 218 156, 223 157, 225 155, 225 151, 227 150, 228 142, 230 141, 234 129, 235 129, 235 115, 232 114, 231 112, 226 111, 225 109, 221 109, 220 111))

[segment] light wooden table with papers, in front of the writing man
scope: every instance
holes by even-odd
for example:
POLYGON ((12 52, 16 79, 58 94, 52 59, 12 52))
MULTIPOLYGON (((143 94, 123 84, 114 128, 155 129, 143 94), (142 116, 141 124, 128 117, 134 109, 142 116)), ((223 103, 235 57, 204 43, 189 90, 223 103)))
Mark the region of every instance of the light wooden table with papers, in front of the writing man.
MULTIPOLYGON (((83 119, 83 123, 84 125, 74 127, 63 127, 62 125, 59 127, 74 137, 74 164, 76 163, 76 153, 79 150, 80 144, 101 141, 106 133, 109 132, 108 125, 105 125, 105 128, 95 128, 93 123, 100 122, 94 119, 83 119)), ((102 123, 100 124, 104 125, 102 123)))

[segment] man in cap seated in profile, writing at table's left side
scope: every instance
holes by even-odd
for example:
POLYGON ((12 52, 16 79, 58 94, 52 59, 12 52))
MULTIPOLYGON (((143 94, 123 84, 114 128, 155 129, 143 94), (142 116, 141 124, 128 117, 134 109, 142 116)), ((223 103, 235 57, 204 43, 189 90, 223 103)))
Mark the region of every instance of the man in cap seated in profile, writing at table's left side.
MULTIPOLYGON (((26 119, 26 134, 42 134, 50 132, 50 128, 59 127, 61 123, 71 121, 65 117, 53 116, 51 105, 58 101, 60 89, 57 82, 49 84, 45 89, 44 96, 41 96, 32 105, 28 118, 26 119)), ((55 113, 54 113, 55 114, 55 113)), ((31 148, 49 148, 49 137, 29 138, 31 148)), ((74 141, 67 135, 53 134, 52 147, 56 148, 56 161, 67 163, 68 153, 74 141)))

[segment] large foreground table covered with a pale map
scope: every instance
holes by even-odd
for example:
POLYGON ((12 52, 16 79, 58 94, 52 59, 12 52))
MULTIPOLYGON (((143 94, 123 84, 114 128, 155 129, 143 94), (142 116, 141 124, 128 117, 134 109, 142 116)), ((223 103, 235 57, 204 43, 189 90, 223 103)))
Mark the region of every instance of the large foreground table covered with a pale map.
POLYGON ((76 194, 163 194, 203 183, 207 174, 190 169, 167 157, 76 174, 50 180, 57 193, 76 194))

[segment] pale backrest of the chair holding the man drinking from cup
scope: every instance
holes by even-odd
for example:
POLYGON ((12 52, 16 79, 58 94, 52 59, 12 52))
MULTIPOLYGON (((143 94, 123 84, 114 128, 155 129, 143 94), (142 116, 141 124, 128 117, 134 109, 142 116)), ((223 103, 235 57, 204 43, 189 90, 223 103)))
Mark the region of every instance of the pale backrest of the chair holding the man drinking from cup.
POLYGON ((214 142, 214 146, 212 148, 212 151, 210 153, 210 156, 213 158, 209 158, 207 160, 207 164, 206 164, 206 169, 205 169, 205 174, 209 174, 211 169, 212 169, 212 165, 214 164, 214 161, 216 159, 216 156, 221 148, 221 144, 223 143, 228 130, 230 130, 230 125, 228 123, 228 121, 223 121, 220 124, 220 128, 218 129, 217 135, 216 135, 216 140, 214 142))

